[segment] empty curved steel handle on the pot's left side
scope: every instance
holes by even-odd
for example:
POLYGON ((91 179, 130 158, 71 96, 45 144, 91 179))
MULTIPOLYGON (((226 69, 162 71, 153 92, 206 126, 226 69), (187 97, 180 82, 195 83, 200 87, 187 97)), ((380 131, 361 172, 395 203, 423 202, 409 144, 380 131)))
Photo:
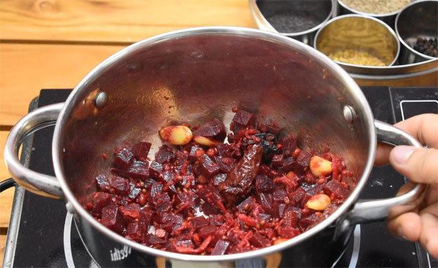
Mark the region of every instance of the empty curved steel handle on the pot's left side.
POLYGON ((20 163, 18 150, 25 137, 38 129, 54 125, 64 103, 44 106, 22 117, 9 132, 4 150, 4 160, 13 179, 24 189, 40 196, 63 197, 63 191, 56 177, 34 172, 20 163))

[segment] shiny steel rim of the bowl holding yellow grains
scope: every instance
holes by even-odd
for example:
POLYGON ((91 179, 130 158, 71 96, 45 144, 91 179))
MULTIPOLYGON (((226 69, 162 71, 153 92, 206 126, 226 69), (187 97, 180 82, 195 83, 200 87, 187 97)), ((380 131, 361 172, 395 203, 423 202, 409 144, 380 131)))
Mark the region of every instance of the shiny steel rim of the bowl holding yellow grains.
MULTIPOLYGON (((372 66, 372 65, 356 65, 356 64, 351 64, 351 63, 343 63, 342 61, 337 61, 337 60, 333 60, 335 63, 339 64, 339 65, 345 65, 345 66, 349 66, 349 67, 356 67, 356 68, 392 68, 392 67, 397 67, 393 66, 394 63, 397 62, 399 55, 400 55, 400 42, 399 39, 397 38, 397 34, 394 32, 394 30, 392 30, 391 27, 389 27, 389 25, 387 25, 386 23, 384 23, 382 20, 379 20, 378 18, 374 18, 371 17, 369 15, 359 15, 359 14, 348 14, 348 15, 340 15, 337 16, 335 18, 332 18, 331 20, 329 20, 325 25, 323 25, 323 27, 321 27, 318 32, 316 32, 315 34, 315 38, 314 38, 314 49, 318 50, 317 48, 317 41, 318 41, 318 37, 319 34, 326 29, 326 27, 328 27, 328 25, 330 25, 331 23, 334 23, 336 20, 342 20, 344 18, 364 18, 367 20, 373 20, 376 23, 380 23, 381 25, 383 25, 390 34, 392 34, 392 37, 394 37, 395 41, 397 42, 397 53, 394 56, 394 60, 392 60, 392 63, 390 63, 389 65, 386 66, 372 66)), ((325 54, 324 54, 325 55, 325 54)), ((327 56, 327 55, 326 55, 327 56)))

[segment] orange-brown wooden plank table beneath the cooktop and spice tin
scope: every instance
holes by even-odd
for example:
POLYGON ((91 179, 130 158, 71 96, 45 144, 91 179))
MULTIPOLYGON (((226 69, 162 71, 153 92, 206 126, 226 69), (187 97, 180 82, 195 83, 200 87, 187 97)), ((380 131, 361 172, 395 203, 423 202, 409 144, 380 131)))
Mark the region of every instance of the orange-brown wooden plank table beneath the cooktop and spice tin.
MULTIPOLYGON (((40 89, 73 88, 133 42, 208 25, 257 27, 247 0, 1 0, 0 180, 8 131, 40 89)), ((437 85, 437 73, 392 84, 437 85)), ((0 194, 0 263, 12 198, 13 189, 0 194)))

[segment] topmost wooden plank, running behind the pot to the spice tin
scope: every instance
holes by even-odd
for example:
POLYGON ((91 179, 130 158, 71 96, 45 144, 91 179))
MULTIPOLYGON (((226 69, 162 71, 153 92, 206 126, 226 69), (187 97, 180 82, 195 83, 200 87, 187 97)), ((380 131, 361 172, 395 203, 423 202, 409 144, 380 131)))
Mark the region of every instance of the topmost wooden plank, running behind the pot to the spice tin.
POLYGON ((136 42, 188 27, 256 27, 247 0, 2 0, 1 39, 136 42))

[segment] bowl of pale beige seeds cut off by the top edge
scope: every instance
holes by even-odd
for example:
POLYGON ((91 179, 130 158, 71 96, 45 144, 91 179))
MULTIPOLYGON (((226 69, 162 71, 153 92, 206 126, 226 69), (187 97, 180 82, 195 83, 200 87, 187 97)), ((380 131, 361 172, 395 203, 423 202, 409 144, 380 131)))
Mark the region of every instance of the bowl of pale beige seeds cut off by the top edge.
POLYGON ((394 27, 394 21, 402 8, 412 0, 337 0, 339 14, 369 15, 394 27))

